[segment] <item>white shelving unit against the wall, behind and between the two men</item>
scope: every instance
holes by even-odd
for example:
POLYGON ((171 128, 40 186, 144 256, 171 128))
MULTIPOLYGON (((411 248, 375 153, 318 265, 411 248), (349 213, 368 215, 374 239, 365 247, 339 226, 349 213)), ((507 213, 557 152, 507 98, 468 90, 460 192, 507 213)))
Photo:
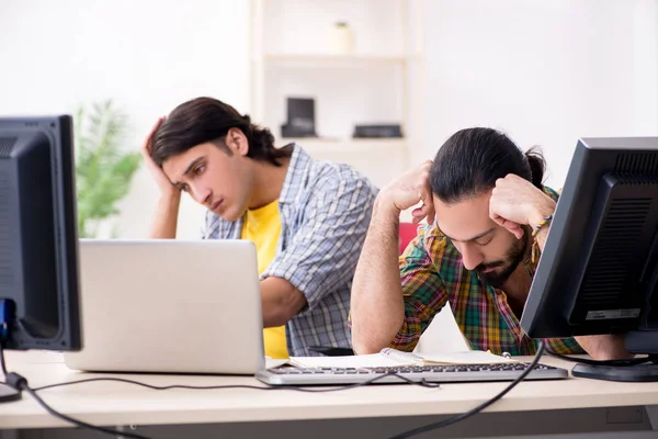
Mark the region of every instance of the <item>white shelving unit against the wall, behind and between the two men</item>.
POLYGON ((252 120, 277 145, 348 162, 382 187, 422 148, 422 32, 418 0, 252 0, 252 120), (355 48, 332 52, 348 22, 355 48), (315 99, 319 138, 283 138, 286 98, 315 99), (400 124, 404 138, 352 138, 355 124, 400 124))

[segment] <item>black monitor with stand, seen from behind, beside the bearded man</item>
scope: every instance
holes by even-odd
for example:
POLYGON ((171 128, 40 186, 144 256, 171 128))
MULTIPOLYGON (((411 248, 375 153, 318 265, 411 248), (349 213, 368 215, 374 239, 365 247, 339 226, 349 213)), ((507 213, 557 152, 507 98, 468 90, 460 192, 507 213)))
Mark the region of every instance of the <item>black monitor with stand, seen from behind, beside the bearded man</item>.
POLYGON ((521 326, 532 338, 625 334, 646 363, 572 374, 658 381, 658 137, 582 138, 557 202, 521 326))

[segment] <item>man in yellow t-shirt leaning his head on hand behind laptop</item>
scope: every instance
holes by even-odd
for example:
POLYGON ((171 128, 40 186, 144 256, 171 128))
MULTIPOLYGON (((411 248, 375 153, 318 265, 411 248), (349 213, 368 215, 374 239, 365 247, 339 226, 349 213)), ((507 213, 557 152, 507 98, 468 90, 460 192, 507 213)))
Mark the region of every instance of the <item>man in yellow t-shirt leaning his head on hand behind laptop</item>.
POLYGON ((268 356, 351 348, 350 290, 376 196, 364 177, 275 147, 269 130, 211 98, 159 120, 143 154, 160 192, 152 238, 175 238, 184 192, 207 209, 203 238, 256 244, 268 356))

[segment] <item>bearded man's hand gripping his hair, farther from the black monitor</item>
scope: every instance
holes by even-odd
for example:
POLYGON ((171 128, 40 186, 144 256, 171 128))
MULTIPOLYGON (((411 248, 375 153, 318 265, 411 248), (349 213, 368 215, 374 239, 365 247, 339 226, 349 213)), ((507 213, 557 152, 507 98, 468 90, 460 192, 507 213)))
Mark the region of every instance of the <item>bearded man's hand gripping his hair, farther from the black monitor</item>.
POLYGON ((378 199, 399 215, 401 211, 422 202, 411 212, 412 222, 420 223, 424 217, 434 222, 434 204, 430 190, 430 169, 432 160, 426 160, 419 167, 399 176, 379 191, 378 199))

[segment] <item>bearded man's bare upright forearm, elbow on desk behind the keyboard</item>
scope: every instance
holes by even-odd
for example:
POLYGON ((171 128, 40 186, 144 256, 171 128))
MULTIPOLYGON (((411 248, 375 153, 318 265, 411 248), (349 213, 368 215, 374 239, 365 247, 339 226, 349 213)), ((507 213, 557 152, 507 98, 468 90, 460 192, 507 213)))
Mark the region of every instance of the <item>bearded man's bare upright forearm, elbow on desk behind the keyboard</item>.
POLYGON ((378 352, 405 320, 398 266, 399 212, 377 198, 352 284, 352 345, 356 353, 378 352))

